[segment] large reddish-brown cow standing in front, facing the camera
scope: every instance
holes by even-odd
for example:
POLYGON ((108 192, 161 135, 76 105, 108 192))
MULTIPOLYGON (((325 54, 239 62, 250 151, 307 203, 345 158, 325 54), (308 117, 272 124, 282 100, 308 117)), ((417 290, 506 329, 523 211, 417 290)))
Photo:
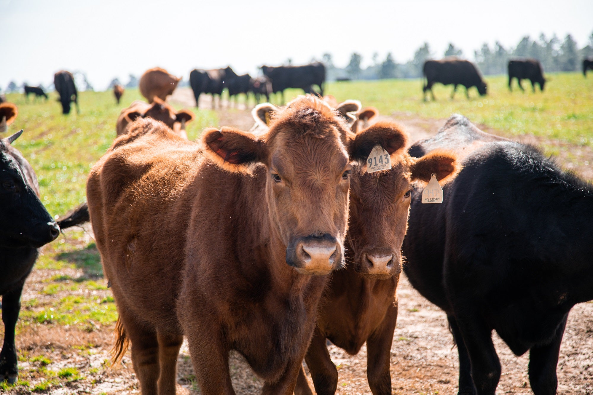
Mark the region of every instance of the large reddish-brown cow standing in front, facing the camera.
MULTIPOLYGON (((316 98, 269 132, 184 141, 139 119, 91 170, 91 222, 144 394, 174 393, 183 334, 203 394, 232 394, 228 352, 291 394, 325 274, 343 266, 347 125, 316 98), (177 314, 176 314, 177 311, 177 314)), ((369 133, 370 134, 370 133, 369 133)))

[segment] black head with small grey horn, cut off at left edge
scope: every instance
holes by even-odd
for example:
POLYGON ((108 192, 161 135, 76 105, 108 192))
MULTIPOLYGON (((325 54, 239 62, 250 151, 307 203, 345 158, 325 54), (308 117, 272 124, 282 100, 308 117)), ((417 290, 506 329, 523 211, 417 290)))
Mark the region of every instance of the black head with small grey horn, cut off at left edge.
POLYGON ((38 248, 60 233, 39 199, 33 169, 10 144, 23 130, 0 139, 0 247, 38 248))

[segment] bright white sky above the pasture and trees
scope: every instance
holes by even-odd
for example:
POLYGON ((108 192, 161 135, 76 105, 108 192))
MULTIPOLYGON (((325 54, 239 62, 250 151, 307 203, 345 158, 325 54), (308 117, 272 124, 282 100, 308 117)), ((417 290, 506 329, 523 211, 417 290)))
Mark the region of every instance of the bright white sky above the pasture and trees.
POLYGON ((196 67, 254 75, 325 52, 337 66, 352 52, 365 65, 374 52, 405 62, 425 41, 437 57, 452 42, 473 59, 484 42, 570 33, 582 47, 593 31, 591 0, 0 0, 0 10, 2 89, 13 79, 47 86, 59 69, 84 71, 102 90, 154 66, 187 79, 196 67))

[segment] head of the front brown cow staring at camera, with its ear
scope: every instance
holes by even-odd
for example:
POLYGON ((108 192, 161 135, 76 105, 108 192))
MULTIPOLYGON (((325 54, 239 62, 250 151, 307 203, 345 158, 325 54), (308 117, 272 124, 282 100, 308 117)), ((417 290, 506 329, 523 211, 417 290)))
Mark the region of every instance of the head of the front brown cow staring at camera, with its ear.
POLYGON ((271 237, 299 273, 325 274, 343 266, 348 129, 326 103, 307 96, 273 114, 263 135, 232 128, 203 133, 206 153, 220 167, 240 173, 266 167, 271 237))

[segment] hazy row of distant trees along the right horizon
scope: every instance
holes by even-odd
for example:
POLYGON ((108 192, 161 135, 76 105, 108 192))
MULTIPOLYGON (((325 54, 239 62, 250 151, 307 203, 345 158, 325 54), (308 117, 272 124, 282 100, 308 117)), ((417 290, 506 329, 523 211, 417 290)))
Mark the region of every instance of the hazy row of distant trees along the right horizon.
MULTIPOLYGON (((578 44, 570 34, 560 40, 556 34, 548 39, 543 33, 539 39, 533 40, 530 36, 523 37, 517 46, 505 48, 500 42, 493 47, 484 43, 479 50, 473 53, 476 65, 484 75, 506 74, 506 65, 511 58, 535 58, 540 60, 546 72, 579 71, 581 62, 593 56, 593 33, 589 36, 588 43, 578 48, 578 44)), ((443 56, 458 56, 467 58, 461 49, 449 43, 443 56)), ((438 59, 432 52, 428 43, 424 43, 414 53, 414 58, 405 63, 398 63, 393 53, 387 53, 384 60, 379 59, 374 53, 371 65, 362 68, 362 55, 352 53, 350 62, 345 68, 339 68, 333 63, 331 53, 324 53, 321 62, 326 65, 327 79, 384 79, 384 78, 417 78, 422 77, 422 66, 427 59, 438 59)))

